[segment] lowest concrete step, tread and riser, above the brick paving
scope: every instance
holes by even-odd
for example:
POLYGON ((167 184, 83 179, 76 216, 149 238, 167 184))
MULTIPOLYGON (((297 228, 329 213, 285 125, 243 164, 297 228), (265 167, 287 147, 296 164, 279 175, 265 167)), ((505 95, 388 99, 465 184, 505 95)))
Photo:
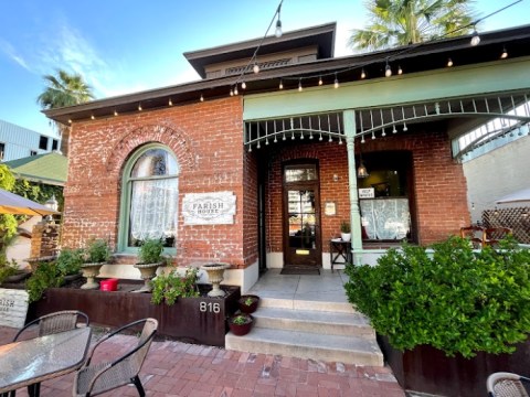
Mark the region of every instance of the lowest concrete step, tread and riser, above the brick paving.
POLYGON ((244 336, 226 334, 225 347, 252 353, 280 354, 344 364, 382 366, 375 340, 254 326, 244 336))

